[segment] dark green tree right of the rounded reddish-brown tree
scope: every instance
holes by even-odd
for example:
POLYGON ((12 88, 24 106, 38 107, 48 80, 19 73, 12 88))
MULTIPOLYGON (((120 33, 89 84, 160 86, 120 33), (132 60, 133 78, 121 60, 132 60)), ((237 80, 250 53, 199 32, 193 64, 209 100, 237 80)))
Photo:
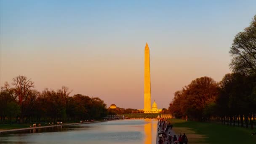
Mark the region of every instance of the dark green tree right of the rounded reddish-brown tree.
POLYGON ((243 117, 247 117, 245 123, 248 127, 248 117, 256 112, 255 104, 251 77, 240 73, 224 76, 220 82, 217 109, 221 117, 226 117, 228 124, 235 124, 235 120, 239 122, 240 117, 240 123, 243 126, 243 117))

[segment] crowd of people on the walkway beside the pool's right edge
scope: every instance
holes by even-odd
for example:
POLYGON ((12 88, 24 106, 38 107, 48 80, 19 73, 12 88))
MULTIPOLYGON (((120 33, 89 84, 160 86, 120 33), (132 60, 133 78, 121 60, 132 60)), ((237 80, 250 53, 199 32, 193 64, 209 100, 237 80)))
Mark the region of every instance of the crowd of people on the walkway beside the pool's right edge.
POLYGON ((173 125, 168 120, 161 118, 158 122, 158 144, 187 144, 188 139, 185 133, 183 135, 179 133, 178 137, 168 133, 169 129, 172 129, 173 125))

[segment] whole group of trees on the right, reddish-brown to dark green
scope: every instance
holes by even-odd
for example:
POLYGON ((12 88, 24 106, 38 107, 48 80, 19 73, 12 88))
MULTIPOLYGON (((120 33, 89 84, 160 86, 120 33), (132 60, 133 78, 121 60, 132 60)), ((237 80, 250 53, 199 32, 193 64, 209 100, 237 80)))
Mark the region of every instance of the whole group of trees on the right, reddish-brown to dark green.
POLYGON ((256 15, 249 27, 235 36, 229 53, 232 73, 220 82, 200 77, 174 93, 169 110, 175 117, 253 128, 256 124, 256 15))

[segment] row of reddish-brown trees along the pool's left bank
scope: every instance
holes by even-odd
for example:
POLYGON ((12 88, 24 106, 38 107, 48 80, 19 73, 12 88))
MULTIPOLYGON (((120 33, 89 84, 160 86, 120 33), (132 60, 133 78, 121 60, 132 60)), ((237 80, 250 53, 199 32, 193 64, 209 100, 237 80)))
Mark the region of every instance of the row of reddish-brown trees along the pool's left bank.
POLYGON ((2 123, 56 122, 101 119, 107 115, 107 106, 97 97, 75 94, 63 86, 54 91, 32 89, 34 83, 25 76, 13 78, 0 91, 0 118, 2 123))

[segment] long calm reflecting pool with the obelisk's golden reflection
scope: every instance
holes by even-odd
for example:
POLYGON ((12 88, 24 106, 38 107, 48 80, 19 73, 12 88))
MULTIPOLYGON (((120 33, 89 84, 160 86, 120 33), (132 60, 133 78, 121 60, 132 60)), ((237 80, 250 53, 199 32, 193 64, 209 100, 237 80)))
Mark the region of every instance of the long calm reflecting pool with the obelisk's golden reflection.
POLYGON ((0 143, 155 144, 157 120, 115 120, 0 134, 0 143))

